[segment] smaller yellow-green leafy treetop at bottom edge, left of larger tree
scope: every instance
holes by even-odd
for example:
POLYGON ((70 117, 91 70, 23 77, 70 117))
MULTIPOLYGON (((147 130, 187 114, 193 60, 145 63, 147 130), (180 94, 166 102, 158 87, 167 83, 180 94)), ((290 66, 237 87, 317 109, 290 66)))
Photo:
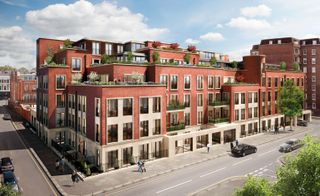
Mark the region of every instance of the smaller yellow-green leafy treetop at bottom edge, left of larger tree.
POLYGON ((271 196, 272 184, 265 178, 249 176, 244 186, 237 189, 236 196, 271 196))

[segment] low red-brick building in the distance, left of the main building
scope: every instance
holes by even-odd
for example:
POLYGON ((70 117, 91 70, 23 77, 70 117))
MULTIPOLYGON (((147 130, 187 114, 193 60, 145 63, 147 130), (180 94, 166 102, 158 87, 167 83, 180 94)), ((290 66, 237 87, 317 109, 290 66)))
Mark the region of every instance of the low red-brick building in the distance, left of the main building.
POLYGON ((10 102, 13 104, 35 105, 37 95, 36 74, 11 72, 10 102))

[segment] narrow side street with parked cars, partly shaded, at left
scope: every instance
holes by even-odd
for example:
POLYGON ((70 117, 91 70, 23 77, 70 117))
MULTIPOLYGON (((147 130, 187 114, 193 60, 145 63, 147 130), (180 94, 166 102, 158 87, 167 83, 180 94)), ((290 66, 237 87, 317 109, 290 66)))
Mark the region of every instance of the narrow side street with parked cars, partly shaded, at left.
POLYGON ((11 121, 2 119, 3 113, 7 110, 6 103, 4 100, 0 101, 0 157, 9 156, 13 159, 14 173, 22 195, 57 195, 40 166, 26 149, 11 121))

